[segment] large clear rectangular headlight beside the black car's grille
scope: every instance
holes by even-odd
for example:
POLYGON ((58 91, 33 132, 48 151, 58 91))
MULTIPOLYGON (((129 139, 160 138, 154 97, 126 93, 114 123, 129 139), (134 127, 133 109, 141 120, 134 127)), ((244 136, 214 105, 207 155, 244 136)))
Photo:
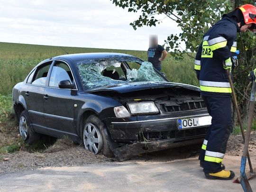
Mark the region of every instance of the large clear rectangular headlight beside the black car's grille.
POLYGON ((153 101, 128 103, 127 105, 132 115, 159 113, 159 110, 157 109, 153 101))

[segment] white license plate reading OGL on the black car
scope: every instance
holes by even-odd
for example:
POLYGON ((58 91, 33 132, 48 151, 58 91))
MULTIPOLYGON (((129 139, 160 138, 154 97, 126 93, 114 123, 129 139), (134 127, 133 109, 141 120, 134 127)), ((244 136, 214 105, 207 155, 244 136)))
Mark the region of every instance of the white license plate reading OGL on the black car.
POLYGON ((206 125, 211 125, 210 116, 178 119, 178 129, 190 129, 206 125))

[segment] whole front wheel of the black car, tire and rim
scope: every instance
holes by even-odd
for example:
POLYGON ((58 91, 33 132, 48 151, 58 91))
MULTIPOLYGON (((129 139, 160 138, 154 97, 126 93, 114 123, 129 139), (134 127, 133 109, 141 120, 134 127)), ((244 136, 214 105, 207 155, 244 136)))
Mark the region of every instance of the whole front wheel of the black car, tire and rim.
POLYGON ((107 127, 99 117, 89 116, 83 124, 82 131, 82 140, 86 150, 90 150, 94 154, 102 152, 104 156, 109 158, 114 157, 110 150, 107 127), (97 143, 97 141, 99 142, 97 143))

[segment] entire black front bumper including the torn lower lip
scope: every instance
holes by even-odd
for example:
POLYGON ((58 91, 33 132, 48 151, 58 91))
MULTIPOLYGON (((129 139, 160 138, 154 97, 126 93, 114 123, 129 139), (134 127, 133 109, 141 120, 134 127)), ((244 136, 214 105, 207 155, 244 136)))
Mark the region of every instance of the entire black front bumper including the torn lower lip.
POLYGON ((201 143, 210 125, 180 130, 178 119, 205 116, 209 116, 207 111, 130 119, 108 118, 106 125, 112 140, 122 143, 112 151, 119 161, 123 161, 146 152, 201 143))

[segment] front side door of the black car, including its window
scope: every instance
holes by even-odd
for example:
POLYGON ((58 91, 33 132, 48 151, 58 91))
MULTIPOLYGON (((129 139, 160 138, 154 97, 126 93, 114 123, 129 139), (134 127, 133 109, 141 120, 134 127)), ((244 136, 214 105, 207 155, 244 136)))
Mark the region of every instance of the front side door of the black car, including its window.
POLYGON ((69 80, 74 83, 70 67, 63 61, 55 61, 44 93, 44 113, 46 127, 53 136, 65 134, 76 136, 74 127, 74 100, 72 89, 60 89, 59 82, 69 80))

